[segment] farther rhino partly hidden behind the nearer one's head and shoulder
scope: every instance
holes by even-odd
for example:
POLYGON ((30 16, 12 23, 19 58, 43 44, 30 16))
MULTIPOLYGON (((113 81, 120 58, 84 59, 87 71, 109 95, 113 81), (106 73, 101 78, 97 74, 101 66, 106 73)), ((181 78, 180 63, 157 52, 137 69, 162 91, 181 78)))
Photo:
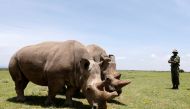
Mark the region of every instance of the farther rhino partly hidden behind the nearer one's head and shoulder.
POLYGON ((118 95, 122 92, 122 87, 129 84, 130 81, 119 80, 121 74, 116 71, 116 62, 114 55, 107 55, 106 51, 98 45, 91 44, 87 46, 87 50, 96 62, 102 62, 101 78, 105 80, 109 78, 110 84, 105 86, 106 91, 117 91, 118 95))

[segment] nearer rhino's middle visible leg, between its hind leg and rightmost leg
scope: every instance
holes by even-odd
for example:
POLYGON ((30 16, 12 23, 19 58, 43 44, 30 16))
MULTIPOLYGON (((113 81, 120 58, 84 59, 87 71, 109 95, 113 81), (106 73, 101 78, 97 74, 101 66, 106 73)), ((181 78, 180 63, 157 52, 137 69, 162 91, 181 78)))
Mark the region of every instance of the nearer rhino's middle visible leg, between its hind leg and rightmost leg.
POLYGON ((48 81, 48 97, 45 105, 54 105, 55 96, 63 88, 64 82, 59 79, 48 81))

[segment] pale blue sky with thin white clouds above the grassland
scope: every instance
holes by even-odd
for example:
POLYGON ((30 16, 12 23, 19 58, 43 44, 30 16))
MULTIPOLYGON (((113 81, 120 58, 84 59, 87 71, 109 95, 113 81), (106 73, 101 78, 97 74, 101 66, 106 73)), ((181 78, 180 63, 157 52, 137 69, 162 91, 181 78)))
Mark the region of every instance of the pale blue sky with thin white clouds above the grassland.
POLYGON ((190 71, 189 0, 0 0, 0 67, 44 41, 97 44, 120 70, 170 70, 172 50, 190 71))

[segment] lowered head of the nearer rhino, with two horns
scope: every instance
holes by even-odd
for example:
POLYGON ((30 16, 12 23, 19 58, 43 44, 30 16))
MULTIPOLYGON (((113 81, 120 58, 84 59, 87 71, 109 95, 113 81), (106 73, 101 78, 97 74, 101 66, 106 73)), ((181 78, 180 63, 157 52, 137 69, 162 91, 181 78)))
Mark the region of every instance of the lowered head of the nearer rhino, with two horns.
POLYGON ((81 68, 87 74, 84 78, 82 92, 86 96, 89 104, 96 109, 106 109, 106 101, 118 96, 116 91, 108 92, 105 86, 111 83, 111 80, 101 79, 100 63, 94 60, 82 59, 81 68))

